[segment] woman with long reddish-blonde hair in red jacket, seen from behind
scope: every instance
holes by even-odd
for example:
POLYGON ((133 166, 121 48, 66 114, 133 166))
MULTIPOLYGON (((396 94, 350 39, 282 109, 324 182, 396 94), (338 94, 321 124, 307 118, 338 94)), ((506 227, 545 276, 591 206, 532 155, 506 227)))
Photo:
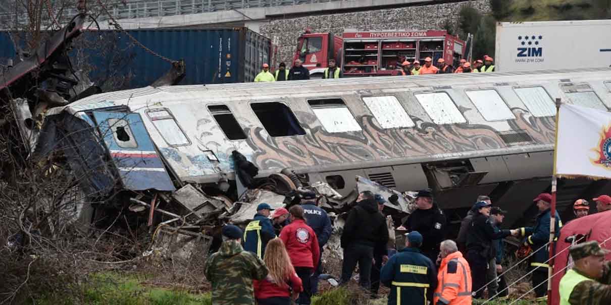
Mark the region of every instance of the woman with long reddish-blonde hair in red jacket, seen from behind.
POLYGON ((263 261, 269 273, 266 279, 253 281, 257 304, 290 305, 291 297, 295 300, 303 288, 282 240, 268 242, 263 261))

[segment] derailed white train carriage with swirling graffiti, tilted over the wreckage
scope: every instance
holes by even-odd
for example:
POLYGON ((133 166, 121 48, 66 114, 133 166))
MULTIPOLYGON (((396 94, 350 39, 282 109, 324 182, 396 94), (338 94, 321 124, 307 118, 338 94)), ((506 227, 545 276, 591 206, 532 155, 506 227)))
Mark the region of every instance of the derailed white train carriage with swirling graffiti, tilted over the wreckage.
MULTIPOLYGON (((430 187, 455 220, 489 195, 511 226, 549 188, 555 101, 607 110, 610 81, 598 69, 145 87, 49 110, 35 152, 62 150, 86 177, 81 188, 100 198, 194 184, 236 199, 239 151, 258 176, 288 167, 342 195, 355 176, 430 187)), ((611 190, 562 183, 559 209, 611 190)))

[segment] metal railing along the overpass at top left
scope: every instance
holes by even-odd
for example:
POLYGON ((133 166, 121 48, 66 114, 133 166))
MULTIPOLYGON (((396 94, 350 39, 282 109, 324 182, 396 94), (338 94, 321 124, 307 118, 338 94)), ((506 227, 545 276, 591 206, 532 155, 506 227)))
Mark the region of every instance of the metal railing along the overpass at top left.
MULTIPOLYGON (((108 4, 112 17, 117 20, 133 18, 149 18, 163 16, 189 15, 196 13, 217 12, 221 10, 251 9, 257 7, 277 7, 298 4, 315 4, 324 2, 354 1, 354 0, 125 0, 108 4)), ((95 7, 95 1, 89 1, 90 9, 95 7)), ((8 5, 7 5, 8 7, 8 5)), ((62 15, 76 15, 76 7, 64 10, 62 15)), ((7 22, 27 20, 21 12, 0 11, 0 26, 7 22), (19 18, 19 19, 17 19, 19 18)), ((99 20, 108 20, 108 16, 100 15, 99 20)), ((5 26, 2 26, 5 27, 5 26)))

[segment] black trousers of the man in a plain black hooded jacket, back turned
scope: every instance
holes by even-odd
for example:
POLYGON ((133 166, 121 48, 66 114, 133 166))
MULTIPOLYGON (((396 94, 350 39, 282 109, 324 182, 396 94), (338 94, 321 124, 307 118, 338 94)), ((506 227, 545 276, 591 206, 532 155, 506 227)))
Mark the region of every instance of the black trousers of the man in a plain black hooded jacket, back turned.
POLYGON ((373 259, 373 246, 354 243, 344 249, 342 263, 342 284, 350 281, 356 264, 359 263, 359 284, 366 290, 371 285, 371 260, 373 259))

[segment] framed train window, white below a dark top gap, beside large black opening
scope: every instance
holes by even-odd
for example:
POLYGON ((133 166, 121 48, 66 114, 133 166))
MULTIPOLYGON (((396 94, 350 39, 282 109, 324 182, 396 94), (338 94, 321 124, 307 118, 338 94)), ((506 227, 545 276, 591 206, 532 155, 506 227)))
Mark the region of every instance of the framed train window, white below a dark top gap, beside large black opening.
POLYGON ((346 105, 346 102, 342 98, 310 98, 307 99, 307 104, 310 106, 310 109, 312 109, 312 112, 323 126, 324 130, 330 134, 363 131, 362 127, 359 125, 359 122, 356 120, 356 117, 354 117, 354 113, 352 113, 352 110, 348 107, 348 105, 346 105), (313 101, 341 101, 342 103, 312 105, 313 101), (332 115, 327 115, 327 113, 323 112, 323 110, 326 109, 332 109, 334 110, 334 113, 331 113, 332 115), (333 120, 334 118, 335 120, 333 120), (341 120, 345 124, 338 127, 338 120, 341 120))

